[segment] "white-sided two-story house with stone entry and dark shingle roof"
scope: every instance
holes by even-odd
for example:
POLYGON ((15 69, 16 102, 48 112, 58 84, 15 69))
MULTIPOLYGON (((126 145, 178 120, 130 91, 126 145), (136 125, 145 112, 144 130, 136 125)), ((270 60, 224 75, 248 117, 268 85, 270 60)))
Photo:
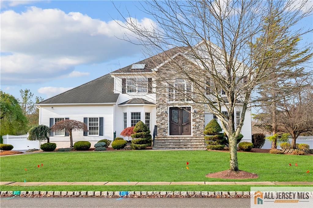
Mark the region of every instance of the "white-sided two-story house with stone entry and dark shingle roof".
MULTIPOLYGON (((173 48, 163 53, 175 55, 176 50, 173 48)), ((173 103, 172 95, 165 98, 154 91, 157 86, 152 84, 152 75, 158 73, 157 68, 162 66, 156 59, 158 55, 40 102, 37 104, 39 124, 52 126, 62 119, 85 122, 89 131, 73 132, 73 140, 90 141, 93 146, 101 139, 113 140, 115 132, 116 137, 121 136, 124 128, 134 126, 141 120, 151 134, 157 126, 155 149, 204 149, 203 129, 211 119, 217 118, 195 108, 192 102, 173 103), (141 84, 135 84, 134 80, 141 84)), ((183 82, 182 86, 187 88, 183 82)), ((240 116, 241 106, 236 109, 235 114, 240 116)), ((222 110, 227 113, 225 108, 222 110)), ((241 133, 243 140, 251 141, 249 110, 245 114, 241 133)), ((57 143, 58 148, 69 146, 69 137, 64 131, 51 132, 50 141, 57 143)))

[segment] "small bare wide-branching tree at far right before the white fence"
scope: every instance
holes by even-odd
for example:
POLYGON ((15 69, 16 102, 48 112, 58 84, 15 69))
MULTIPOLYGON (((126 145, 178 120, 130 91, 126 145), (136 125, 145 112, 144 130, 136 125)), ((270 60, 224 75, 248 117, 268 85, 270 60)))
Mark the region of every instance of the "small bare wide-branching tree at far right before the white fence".
POLYGON ((291 135, 291 147, 296 149, 296 140, 301 134, 313 133, 313 91, 284 98, 278 109, 278 129, 291 135))

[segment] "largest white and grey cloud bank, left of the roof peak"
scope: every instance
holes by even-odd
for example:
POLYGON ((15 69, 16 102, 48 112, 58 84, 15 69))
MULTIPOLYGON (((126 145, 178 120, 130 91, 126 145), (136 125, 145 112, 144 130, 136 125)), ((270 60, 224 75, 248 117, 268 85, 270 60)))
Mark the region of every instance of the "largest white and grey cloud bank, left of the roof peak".
MULTIPOLYGON (((146 28, 152 20, 136 20, 146 28)), ((30 7, 16 13, 1 13, 2 84, 38 83, 73 76, 75 66, 109 61, 139 53, 141 46, 119 38, 134 34, 121 27, 125 23, 104 22, 78 12, 30 7), (118 37, 118 38, 116 38, 118 37), (72 74, 73 73, 73 74, 72 74)))

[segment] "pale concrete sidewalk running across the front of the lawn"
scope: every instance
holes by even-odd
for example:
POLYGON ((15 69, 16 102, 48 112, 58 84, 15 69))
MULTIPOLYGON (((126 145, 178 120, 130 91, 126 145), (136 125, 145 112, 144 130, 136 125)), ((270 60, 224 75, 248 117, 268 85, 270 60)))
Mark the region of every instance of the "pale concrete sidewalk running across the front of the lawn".
POLYGON ((20 185, 20 186, 36 186, 36 185, 313 185, 313 181, 180 181, 180 182, 15 182, 0 181, 0 185, 20 185))

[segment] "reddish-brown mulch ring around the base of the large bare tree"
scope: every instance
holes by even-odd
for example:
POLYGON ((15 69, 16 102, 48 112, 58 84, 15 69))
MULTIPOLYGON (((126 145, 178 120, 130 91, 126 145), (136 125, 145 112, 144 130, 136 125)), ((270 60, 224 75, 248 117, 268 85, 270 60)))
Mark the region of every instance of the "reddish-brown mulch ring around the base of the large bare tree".
POLYGON ((216 173, 209 173, 206 175, 208 178, 225 178, 225 179, 248 179, 248 178, 258 178, 259 176, 254 173, 250 173, 247 171, 239 170, 239 171, 230 171, 223 170, 216 173))

